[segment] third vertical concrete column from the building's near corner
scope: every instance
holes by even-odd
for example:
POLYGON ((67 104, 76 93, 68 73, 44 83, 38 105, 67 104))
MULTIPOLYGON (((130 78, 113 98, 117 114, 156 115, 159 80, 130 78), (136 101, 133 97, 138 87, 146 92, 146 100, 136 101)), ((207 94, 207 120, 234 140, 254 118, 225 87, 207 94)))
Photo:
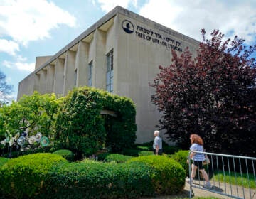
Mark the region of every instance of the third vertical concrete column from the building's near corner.
POLYGON ((64 64, 63 95, 67 95, 75 87, 75 52, 68 50, 64 64))

